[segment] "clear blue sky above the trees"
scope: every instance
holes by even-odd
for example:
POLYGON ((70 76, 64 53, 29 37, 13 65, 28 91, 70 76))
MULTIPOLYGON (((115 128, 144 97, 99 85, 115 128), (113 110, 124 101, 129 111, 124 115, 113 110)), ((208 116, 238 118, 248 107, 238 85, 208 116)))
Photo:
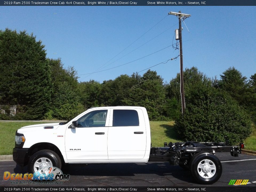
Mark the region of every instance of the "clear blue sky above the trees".
MULTIPOLYGON (((102 82, 121 74, 131 75, 179 55, 178 50, 168 47, 115 69, 80 75, 92 73, 102 65, 100 70, 122 65, 170 46, 178 18, 166 15, 179 10, 191 14, 185 20, 190 32, 182 23, 184 68, 196 66, 208 77, 217 75, 217 78, 231 66, 247 78, 256 73, 256 7, 2 6, 0 29, 33 33, 45 45, 48 58, 61 58, 65 67, 74 66, 79 81, 102 82)), ((169 82, 179 72, 179 58, 151 70, 169 82)))

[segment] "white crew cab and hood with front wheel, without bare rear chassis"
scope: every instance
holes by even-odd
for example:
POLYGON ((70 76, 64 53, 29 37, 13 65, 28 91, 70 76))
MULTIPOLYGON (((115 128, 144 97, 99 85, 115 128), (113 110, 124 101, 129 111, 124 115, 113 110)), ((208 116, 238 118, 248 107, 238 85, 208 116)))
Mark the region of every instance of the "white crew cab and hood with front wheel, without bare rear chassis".
POLYGON ((13 159, 31 173, 65 163, 147 162, 150 143, 144 107, 95 107, 67 122, 18 129, 13 159))

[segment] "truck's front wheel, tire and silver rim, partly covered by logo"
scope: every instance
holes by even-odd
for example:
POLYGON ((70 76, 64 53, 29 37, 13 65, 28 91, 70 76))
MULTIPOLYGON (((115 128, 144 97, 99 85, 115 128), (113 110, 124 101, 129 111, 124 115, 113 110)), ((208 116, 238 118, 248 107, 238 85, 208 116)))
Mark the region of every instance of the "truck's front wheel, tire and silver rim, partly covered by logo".
POLYGON ((41 150, 34 153, 29 159, 29 173, 39 172, 47 175, 50 167, 61 168, 61 159, 54 151, 41 150))

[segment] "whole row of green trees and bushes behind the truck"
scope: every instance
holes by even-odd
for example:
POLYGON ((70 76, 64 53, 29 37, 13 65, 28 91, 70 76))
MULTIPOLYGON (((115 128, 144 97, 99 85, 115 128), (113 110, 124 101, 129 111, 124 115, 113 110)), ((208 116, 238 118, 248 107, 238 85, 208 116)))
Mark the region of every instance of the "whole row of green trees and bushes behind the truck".
MULTIPOLYGON (((74 67, 47 58, 42 42, 26 31, 0 31, 0 66, 0 105, 6 112, 0 119, 67 120, 90 107, 143 106, 150 120, 175 120, 185 139, 195 138, 194 129, 206 134, 212 127, 211 135, 223 133, 214 136, 216 140, 241 140, 251 133, 251 120, 256 120, 256 73, 247 80, 234 67, 220 79, 207 77, 197 67, 185 69, 186 110, 181 115, 179 73, 169 83, 152 70, 102 83, 78 82, 74 67), (11 105, 17 106, 15 116, 10 114, 11 105), (237 129, 235 135, 230 135, 229 127, 237 129)), ((200 135, 204 134, 198 133, 199 140, 210 139, 200 135)))

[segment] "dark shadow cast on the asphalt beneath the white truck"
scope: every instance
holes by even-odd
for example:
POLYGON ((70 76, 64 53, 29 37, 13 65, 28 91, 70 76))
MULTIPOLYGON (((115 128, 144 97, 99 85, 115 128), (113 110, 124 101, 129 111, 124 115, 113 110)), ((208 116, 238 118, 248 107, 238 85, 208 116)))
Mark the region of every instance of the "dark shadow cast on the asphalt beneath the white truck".
MULTIPOLYGON (((170 165, 169 162, 73 164, 65 166, 62 171, 63 174, 70 175, 71 181, 73 180, 72 176, 114 176, 117 178, 129 177, 129 179, 142 181, 149 178, 153 180, 167 179, 172 186, 196 184, 189 171, 183 170, 180 166, 170 165)), ((27 166, 22 170, 21 166, 16 165, 14 173, 27 173, 27 166)), ((77 177, 73 178, 77 179, 77 177)), ((94 178, 94 180, 97 180, 97 178, 94 178)))

